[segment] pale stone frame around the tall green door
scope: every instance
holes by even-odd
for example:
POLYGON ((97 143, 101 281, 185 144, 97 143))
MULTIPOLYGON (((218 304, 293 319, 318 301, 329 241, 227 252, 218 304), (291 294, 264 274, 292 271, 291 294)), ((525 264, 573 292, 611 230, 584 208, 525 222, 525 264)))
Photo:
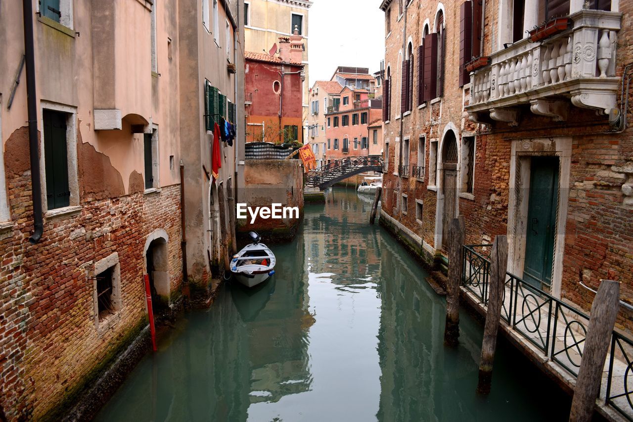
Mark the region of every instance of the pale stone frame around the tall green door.
POLYGON ((552 267, 551 295, 560 298, 565 252, 565 226, 569 200, 572 137, 537 137, 511 141, 508 198, 508 272, 523 277, 525 236, 533 157, 558 157, 558 202, 552 267))

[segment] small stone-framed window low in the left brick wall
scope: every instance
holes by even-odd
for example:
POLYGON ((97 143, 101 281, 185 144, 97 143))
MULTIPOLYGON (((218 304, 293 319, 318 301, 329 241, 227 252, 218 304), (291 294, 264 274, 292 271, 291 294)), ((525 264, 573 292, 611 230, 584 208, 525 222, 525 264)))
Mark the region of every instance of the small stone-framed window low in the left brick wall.
POLYGON ((118 253, 98 260, 94 264, 94 321, 99 326, 101 321, 121 309, 121 266, 118 253))

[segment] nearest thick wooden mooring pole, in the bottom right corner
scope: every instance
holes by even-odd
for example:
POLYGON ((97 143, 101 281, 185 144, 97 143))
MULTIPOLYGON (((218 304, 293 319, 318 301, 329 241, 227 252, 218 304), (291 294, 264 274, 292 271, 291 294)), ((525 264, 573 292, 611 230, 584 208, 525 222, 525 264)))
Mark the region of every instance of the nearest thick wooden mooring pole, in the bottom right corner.
POLYGON ((591 421, 611 343, 611 333, 620 309, 619 296, 620 283, 613 280, 603 280, 600 283, 591 305, 585 347, 573 390, 570 422, 591 421))

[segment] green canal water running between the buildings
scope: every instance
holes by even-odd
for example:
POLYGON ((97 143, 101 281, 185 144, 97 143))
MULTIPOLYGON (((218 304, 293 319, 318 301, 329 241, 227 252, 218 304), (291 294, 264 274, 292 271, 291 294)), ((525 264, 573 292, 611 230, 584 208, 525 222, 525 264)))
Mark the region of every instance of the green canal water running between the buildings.
POLYGON ((330 189, 306 205, 277 273, 225 285, 189 312, 106 404, 102 421, 563 421, 570 400, 500 339, 492 392, 475 393, 482 326, 446 302, 380 226, 371 198, 330 189))

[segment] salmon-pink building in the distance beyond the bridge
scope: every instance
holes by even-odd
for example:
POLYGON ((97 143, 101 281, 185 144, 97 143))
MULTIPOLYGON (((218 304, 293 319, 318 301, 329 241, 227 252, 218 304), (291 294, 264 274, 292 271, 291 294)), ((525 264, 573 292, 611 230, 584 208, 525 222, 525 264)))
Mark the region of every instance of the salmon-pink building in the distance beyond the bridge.
POLYGON ((348 156, 369 154, 368 124, 379 120, 382 101, 369 98, 367 89, 344 87, 340 103, 335 102, 325 114, 327 162, 348 156))

